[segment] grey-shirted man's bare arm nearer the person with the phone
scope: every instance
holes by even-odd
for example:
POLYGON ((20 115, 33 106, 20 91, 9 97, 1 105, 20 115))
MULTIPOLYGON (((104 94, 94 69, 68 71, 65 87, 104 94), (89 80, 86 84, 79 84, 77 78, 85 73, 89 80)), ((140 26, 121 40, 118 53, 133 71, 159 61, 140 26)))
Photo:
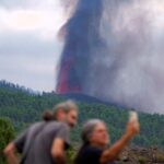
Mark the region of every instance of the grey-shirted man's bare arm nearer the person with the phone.
POLYGON ((57 164, 66 164, 65 157, 65 141, 61 139, 55 139, 51 148, 51 156, 57 164))

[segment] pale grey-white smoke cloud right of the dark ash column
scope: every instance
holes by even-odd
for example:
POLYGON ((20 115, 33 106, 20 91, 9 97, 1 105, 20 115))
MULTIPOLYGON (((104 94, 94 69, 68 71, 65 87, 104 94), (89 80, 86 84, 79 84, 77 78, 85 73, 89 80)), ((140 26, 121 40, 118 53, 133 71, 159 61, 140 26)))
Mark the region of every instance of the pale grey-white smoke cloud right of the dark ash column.
POLYGON ((93 87, 91 94, 139 110, 164 113, 164 1, 131 0, 115 8, 110 2, 105 1, 102 20, 108 51, 101 61, 95 57, 93 67, 106 66, 108 77, 99 73, 95 86, 104 87, 93 87))

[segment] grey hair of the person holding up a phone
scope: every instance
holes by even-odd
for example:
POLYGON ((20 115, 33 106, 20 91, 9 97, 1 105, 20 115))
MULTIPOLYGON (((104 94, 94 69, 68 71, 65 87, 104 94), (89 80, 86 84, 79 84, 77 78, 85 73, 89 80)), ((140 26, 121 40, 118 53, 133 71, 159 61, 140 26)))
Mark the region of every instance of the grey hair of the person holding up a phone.
POLYGON ((81 133, 81 139, 82 139, 82 145, 77 154, 77 157, 74 160, 74 164, 79 163, 80 160, 80 154, 82 152, 82 150, 86 147, 90 145, 90 138, 95 129, 95 127, 98 124, 105 124, 104 121, 99 120, 99 119, 91 119, 89 121, 86 121, 82 128, 82 133, 81 133))

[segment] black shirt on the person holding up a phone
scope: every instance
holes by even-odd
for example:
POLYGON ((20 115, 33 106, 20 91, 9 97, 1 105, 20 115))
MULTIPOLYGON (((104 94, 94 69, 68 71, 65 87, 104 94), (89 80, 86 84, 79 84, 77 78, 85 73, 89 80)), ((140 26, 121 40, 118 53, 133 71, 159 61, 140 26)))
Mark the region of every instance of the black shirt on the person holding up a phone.
MULTIPOLYGON (((75 164, 101 164, 103 152, 104 150, 94 147, 83 148, 78 155, 75 164)), ((106 164, 114 164, 114 162, 106 164)))

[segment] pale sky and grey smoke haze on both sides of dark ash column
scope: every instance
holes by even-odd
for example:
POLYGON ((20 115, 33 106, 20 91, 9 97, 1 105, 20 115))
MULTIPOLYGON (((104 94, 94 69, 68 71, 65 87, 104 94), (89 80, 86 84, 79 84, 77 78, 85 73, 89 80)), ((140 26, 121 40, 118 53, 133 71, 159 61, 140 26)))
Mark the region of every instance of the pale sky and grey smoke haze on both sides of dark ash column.
MULTIPOLYGON (((69 16, 63 4, 69 9, 73 1, 0 1, 0 79, 55 90, 63 47, 56 35, 69 16)), ((102 1, 99 35, 107 48, 92 56, 85 90, 106 101, 162 112, 164 0, 102 1)))

